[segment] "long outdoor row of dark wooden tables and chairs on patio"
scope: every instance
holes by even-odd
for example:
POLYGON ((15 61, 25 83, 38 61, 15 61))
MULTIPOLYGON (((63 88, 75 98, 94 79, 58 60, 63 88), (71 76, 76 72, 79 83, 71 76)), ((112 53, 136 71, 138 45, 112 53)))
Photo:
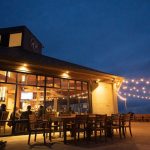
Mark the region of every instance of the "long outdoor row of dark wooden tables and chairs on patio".
POLYGON ((53 142, 59 138, 64 144, 73 141, 78 144, 80 141, 98 143, 100 140, 107 142, 107 139, 126 138, 127 128, 131 132, 131 114, 44 114, 37 118, 34 114, 29 115, 28 120, 28 144, 37 141, 37 135, 43 134, 43 144, 53 142))

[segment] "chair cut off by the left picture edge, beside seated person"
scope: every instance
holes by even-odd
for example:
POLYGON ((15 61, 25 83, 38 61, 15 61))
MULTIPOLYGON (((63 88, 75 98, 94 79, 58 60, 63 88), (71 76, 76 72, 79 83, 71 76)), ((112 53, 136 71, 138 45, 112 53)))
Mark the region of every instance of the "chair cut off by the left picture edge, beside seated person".
POLYGON ((4 129, 4 133, 5 133, 5 127, 6 127, 6 122, 7 122, 7 118, 8 118, 8 111, 3 111, 1 118, 0 118, 0 133, 1 133, 1 129, 4 129))

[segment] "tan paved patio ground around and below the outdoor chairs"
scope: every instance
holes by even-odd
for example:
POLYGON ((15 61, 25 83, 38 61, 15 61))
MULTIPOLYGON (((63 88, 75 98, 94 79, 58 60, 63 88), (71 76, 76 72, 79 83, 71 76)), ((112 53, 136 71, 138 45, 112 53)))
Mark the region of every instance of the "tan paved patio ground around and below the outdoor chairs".
POLYGON ((132 133, 133 137, 130 137, 128 133, 126 139, 120 139, 117 135, 114 140, 108 139, 106 143, 104 141, 99 141, 98 144, 80 142, 78 145, 54 142, 52 145, 44 146, 43 139, 39 136, 37 136, 38 143, 31 143, 32 146, 27 145, 28 136, 11 136, 2 139, 7 140, 4 150, 150 150, 150 123, 133 123, 132 133))

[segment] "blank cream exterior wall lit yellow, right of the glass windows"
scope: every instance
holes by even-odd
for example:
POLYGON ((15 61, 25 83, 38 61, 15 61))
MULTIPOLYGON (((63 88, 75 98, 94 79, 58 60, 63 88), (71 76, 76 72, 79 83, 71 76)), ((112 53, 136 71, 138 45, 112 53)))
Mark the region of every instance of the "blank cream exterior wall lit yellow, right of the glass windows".
POLYGON ((92 112, 94 114, 111 115, 118 112, 117 97, 114 91, 113 84, 104 82, 93 84, 92 112))

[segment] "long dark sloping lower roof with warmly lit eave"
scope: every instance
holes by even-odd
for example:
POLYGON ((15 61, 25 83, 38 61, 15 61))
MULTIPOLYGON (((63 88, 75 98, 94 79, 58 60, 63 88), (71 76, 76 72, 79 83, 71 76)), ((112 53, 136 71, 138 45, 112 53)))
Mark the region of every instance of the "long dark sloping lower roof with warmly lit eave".
POLYGON ((22 50, 19 48, 3 48, 0 49, 0 62, 7 62, 7 63, 27 63, 31 66, 36 66, 39 71, 42 70, 43 73, 47 73, 47 71, 43 69, 53 69, 56 71, 60 70, 68 70, 75 73, 82 73, 85 76, 94 75, 96 76, 103 76, 104 78, 111 78, 111 79, 123 79, 120 76, 116 76, 113 74, 105 73, 99 70, 95 70, 92 68, 88 68, 85 66, 81 66, 78 64, 70 63, 67 61, 59 60, 56 58, 44 56, 41 54, 37 54, 34 52, 30 52, 27 50, 22 50))

